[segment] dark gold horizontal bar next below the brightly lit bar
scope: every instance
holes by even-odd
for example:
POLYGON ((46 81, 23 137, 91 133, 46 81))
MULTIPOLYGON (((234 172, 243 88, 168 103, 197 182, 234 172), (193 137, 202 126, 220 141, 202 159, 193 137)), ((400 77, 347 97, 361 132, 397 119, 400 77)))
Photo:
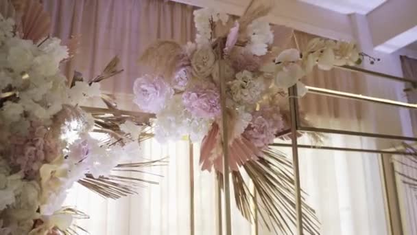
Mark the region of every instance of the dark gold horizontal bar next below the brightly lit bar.
POLYGON ((338 135, 357 135, 362 137, 372 137, 372 138, 381 138, 381 139, 398 139, 417 142, 417 137, 407 137, 400 135, 384 135, 376 133, 366 133, 358 131, 344 131, 344 130, 335 130, 328 128, 317 128, 317 127, 308 127, 308 126, 298 126, 298 131, 308 131, 308 132, 320 132, 320 133, 329 133, 329 134, 338 134, 338 135))

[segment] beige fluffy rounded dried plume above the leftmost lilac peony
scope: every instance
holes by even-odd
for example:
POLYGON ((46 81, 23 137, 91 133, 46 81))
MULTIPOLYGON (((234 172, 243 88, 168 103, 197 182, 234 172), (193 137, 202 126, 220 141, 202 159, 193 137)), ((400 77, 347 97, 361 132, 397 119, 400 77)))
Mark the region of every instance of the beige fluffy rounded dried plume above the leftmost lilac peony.
POLYGON ((174 74, 184 64, 189 63, 182 46, 173 41, 157 41, 147 47, 139 58, 139 65, 146 73, 174 78, 174 74), (161 66, 162 65, 162 66, 161 66))

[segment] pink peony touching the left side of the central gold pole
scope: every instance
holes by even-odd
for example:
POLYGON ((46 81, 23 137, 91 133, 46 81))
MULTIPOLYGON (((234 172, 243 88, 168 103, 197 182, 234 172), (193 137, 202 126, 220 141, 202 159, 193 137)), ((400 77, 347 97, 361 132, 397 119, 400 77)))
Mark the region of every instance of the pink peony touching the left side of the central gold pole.
POLYGON ((220 114, 219 90, 211 82, 195 85, 185 91, 182 102, 195 117, 213 118, 220 114))

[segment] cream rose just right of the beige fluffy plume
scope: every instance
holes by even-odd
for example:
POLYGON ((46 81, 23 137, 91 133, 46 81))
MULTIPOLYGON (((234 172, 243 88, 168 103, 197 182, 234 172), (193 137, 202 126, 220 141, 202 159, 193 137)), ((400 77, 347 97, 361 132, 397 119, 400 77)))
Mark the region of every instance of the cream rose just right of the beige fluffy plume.
POLYGON ((216 56, 211 47, 202 47, 193 54, 191 58, 191 67, 193 74, 199 78, 206 78, 213 71, 216 62, 216 56))

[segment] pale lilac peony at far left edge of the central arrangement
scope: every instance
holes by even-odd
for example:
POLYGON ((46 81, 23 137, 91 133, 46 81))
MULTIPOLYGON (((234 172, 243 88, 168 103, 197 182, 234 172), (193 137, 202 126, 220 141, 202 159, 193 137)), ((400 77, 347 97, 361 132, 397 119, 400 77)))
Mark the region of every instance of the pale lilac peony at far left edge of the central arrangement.
POLYGON ((174 90, 160 76, 145 75, 134 81, 134 102, 145 112, 159 113, 174 90))

